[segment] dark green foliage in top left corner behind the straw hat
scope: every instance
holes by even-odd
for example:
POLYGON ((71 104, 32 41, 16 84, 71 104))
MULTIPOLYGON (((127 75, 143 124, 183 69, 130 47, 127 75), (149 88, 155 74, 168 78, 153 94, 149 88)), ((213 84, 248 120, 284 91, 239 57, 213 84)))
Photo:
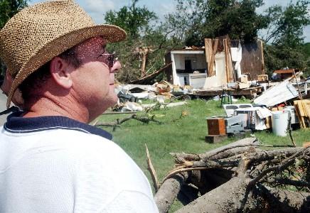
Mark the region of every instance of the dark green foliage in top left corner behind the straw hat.
MULTIPOLYGON (((18 11, 26 7, 27 1, 28 0, 0 0, 0 28, 3 28, 6 22, 18 11)), ((0 81, 4 72, 5 67, 0 60, 0 81)))

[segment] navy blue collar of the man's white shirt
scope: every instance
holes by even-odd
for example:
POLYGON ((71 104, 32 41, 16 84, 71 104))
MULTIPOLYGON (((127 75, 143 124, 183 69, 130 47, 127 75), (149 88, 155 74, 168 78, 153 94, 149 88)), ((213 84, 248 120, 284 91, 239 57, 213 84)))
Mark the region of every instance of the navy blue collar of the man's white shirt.
POLYGON ((22 111, 10 114, 7 118, 4 129, 11 133, 31 133, 36 131, 45 131, 51 129, 70 129, 75 131, 82 131, 85 133, 102 136, 109 140, 112 139, 112 134, 99 129, 95 126, 69 119, 65 116, 40 116, 34 118, 23 118, 22 111))

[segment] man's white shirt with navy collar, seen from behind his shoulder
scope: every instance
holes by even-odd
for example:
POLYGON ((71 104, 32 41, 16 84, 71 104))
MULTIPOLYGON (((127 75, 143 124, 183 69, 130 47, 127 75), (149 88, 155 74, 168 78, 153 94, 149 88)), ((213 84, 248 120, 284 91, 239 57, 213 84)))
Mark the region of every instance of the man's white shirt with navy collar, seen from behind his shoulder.
POLYGON ((0 131, 0 212, 158 212, 109 133, 60 116, 11 116, 0 131))

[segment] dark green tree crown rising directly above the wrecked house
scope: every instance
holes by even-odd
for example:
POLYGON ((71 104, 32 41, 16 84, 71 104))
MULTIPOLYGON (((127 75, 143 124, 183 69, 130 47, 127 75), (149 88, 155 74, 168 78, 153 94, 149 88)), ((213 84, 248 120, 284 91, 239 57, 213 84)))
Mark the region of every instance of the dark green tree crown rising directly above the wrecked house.
POLYGON ((203 38, 222 35, 250 42, 267 26, 267 18, 255 11, 262 0, 176 1, 176 12, 167 16, 167 23, 186 45, 203 45, 203 38))

